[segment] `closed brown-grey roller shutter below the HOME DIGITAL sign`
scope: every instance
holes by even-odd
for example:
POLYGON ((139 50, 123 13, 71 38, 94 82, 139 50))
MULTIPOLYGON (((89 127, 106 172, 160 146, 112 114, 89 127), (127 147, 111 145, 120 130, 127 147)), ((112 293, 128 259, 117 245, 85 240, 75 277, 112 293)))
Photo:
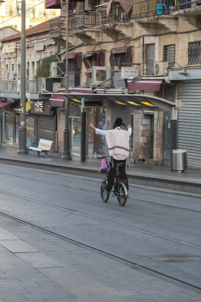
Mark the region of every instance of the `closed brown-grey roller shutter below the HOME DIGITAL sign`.
POLYGON ((38 115, 37 116, 37 142, 40 138, 52 140, 51 150, 55 152, 55 115, 38 115))

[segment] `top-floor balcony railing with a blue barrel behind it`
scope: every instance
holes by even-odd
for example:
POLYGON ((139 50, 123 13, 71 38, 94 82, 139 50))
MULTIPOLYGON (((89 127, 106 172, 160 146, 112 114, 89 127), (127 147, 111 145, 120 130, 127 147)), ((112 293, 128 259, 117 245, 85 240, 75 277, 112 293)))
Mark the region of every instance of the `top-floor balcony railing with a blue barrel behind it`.
POLYGON ((133 3, 134 19, 160 15, 173 15, 174 12, 175 6, 172 5, 171 0, 164 0, 162 4, 159 3, 158 0, 134 0, 133 3))

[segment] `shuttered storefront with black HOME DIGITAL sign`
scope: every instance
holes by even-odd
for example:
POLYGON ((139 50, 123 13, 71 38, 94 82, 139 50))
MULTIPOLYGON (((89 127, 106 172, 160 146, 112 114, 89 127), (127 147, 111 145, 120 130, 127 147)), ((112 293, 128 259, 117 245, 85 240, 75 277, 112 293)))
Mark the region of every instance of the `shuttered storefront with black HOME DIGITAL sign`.
MULTIPOLYGON (((35 133, 36 138, 34 141, 42 139, 52 140, 52 152, 57 151, 56 145, 56 125, 57 125, 57 116, 56 110, 50 107, 49 100, 38 100, 31 102, 31 114, 35 116, 35 133)), ((30 120, 31 123, 31 120, 30 120)), ((28 124, 27 124, 28 128, 28 124)), ((28 129, 29 130, 29 129, 28 129)), ((29 133, 30 136, 31 133, 29 133)))

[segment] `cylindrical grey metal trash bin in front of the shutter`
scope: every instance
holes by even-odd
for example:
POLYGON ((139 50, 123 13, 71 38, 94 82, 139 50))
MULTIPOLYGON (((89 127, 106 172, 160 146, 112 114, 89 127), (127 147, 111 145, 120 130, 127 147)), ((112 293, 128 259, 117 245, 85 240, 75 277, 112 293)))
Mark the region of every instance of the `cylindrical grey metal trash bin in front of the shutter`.
POLYGON ((187 170, 187 151, 185 149, 172 150, 172 170, 177 172, 187 170))

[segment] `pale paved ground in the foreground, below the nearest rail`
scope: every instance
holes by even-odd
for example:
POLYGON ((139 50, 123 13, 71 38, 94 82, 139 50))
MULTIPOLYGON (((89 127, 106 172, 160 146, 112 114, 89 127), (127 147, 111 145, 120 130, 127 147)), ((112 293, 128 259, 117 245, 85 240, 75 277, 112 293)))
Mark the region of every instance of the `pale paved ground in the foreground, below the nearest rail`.
POLYGON ((201 293, 1 216, 0 302, 189 302, 201 293))

